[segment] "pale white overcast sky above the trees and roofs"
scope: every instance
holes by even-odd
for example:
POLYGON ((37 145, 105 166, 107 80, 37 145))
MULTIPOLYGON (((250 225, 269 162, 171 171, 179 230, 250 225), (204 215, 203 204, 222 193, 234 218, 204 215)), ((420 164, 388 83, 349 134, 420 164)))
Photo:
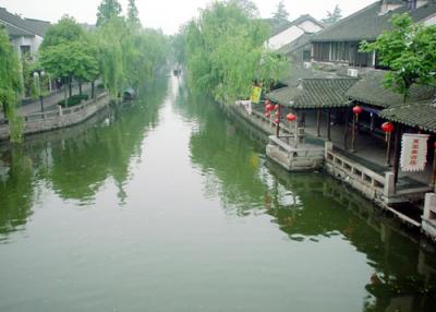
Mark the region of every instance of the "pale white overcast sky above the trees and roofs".
MULTIPOLYGON (((376 0, 284 0, 290 20, 302 14, 311 14, 323 19, 327 11, 338 4, 342 15, 375 2, 376 0)), ((74 16, 80 23, 95 24, 97 7, 101 0, 0 0, 0 7, 23 17, 38 19, 56 23, 62 15, 74 16)), ((126 12, 128 0, 119 0, 126 12)), ((177 33, 179 26, 198 15, 198 9, 205 8, 210 0, 136 0, 140 19, 144 26, 161 28, 170 35, 177 33)), ((279 0, 254 0, 262 17, 270 17, 276 11, 279 0)))

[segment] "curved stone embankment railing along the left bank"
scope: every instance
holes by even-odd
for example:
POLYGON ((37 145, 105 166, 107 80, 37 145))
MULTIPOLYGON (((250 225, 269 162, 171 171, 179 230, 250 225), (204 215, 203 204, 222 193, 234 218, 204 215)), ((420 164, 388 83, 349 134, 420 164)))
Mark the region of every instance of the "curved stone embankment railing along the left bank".
MULTIPOLYGON (((57 110, 23 116, 23 134, 26 135, 38 132, 46 132, 81 123, 89 117, 94 116, 97 111, 107 107, 110 98, 108 94, 102 93, 98 95, 95 99, 84 101, 81 105, 74 107, 62 108, 61 106, 58 106, 57 110)), ((8 140, 9 137, 9 124, 0 124, 0 140, 8 140)))

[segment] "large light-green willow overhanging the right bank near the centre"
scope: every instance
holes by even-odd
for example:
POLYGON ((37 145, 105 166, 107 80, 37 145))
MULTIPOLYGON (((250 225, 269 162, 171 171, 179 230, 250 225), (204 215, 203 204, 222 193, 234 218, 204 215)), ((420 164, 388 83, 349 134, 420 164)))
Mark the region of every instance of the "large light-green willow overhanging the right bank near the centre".
POLYGON ((267 35, 267 26, 238 1, 214 2, 181 35, 191 86, 229 103, 249 97, 255 79, 278 79, 286 60, 265 49, 267 35))

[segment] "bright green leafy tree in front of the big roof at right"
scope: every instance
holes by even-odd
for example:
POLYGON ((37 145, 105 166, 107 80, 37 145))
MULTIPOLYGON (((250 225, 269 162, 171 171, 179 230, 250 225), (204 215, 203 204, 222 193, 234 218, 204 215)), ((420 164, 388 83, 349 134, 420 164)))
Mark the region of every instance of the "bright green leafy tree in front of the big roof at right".
POLYGON ((376 41, 361 44, 364 52, 375 51, 380 64, 388 68, 385 86, 404 96, 415 84, 435 83, 436 26, 414 24, 408 13, 391 19, 392 31, 376 41))

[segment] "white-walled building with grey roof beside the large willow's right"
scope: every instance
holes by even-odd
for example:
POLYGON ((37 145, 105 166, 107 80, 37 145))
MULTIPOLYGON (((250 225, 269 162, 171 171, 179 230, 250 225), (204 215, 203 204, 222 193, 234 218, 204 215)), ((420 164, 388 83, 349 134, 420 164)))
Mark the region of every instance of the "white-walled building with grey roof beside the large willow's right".
POLYGON ((301 15, 281 28, 274 28, 266 45, 282 55, 298 55, 310 59, 310 38, 324 28, 324 24, 308 14, 301 15))

